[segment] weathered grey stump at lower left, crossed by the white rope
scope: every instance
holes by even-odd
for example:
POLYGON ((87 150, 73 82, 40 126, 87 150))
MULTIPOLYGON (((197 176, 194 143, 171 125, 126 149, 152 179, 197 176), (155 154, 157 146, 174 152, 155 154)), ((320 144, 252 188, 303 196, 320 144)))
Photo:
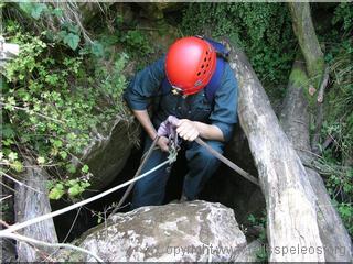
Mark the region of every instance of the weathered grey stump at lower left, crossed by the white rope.
MULTIPOLYGON (((23 173, 24 180, 22 183, 35 190, 23 185, 15 186, 15 222, 23 222, 52 211, 46 190, 46 173, 29 162, 25 162, 25 166, 26 170, 23 173)), ((40 241, 57 243, 53 219, 32 224, 23 229, 21 234, 40 241)), ((43 249, 36 249, 24 242, 18 242, 17 251, 19 262, 40 261, 46 256, 46 253, 51 253, 47 250, 43 251, 43 249)))

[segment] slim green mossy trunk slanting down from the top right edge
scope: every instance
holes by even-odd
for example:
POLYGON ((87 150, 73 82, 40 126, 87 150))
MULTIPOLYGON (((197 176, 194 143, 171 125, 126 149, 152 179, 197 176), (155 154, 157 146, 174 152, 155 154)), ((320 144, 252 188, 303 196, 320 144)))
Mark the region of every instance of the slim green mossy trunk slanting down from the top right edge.
POLYGON ((288 2, 292 18, 295 34, 307 62, 309 77, 314 80, 319 89, 324 69, 323 53, 321 51, 315 30, 312 24, 309 2, 288 2))

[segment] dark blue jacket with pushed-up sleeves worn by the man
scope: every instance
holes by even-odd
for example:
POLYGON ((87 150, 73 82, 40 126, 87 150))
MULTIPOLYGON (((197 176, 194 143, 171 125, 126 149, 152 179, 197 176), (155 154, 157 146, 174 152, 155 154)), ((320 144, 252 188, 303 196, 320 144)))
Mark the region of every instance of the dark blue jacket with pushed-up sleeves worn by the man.
POLYGON ((132 110, 146 110, 153 98, 160 97, 158 110, 152 118, 156 128, 168 116, 173 114, 180 119, 214 124, 221 129, 225 141, 228 141, 237 122, 237 81, 229 65, 226 63, 221 87, 217 88, 213 102, 210 102, 204 90, 186 98, 172 92, 162 95, 164 62, 163 56, 137 73, 124 94, 129 107, 132 110))

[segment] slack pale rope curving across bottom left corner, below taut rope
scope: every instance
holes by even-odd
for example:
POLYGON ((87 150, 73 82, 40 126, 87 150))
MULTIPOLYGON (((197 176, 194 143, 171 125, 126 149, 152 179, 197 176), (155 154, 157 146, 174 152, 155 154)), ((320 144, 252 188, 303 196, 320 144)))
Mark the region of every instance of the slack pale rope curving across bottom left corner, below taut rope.
POLYGON ((65 244, 65 243, 47 243, 44 241, 40 241, 40 240, 35 240, 35 239, 31 239, 28 237, 24 237, 22 234, 14 234, 14 233, 6 233, 6 234, 0 234, 0 238, 7 238, 7 239, 13 239, 13 240, 19 240, 19 241, 24 241, 28 243, 32 243, 32 244, 36 244, 36 245, 42 245, 42 246, 47 246, 47 248, 66 248, 69 250, 75 250, 75 251, 79 251, 83 253, 86 253, 87 255, 93 256, 94 258, 96 258, 98 262, 104 263, 104 261, 97 256, 95 253, 85 250, 83 248, 73 245, 73 244, 65 244))

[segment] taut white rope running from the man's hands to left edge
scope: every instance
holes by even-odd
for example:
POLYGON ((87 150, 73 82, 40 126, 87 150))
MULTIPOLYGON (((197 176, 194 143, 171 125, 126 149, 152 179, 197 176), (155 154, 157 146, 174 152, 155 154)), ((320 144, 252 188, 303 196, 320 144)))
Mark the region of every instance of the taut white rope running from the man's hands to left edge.
POLYGON ((110 189, 108 189, 106 191, 103 191, 103 193, 100 193, 100 194, 98 194, 96 196, 93 196, 93 197, 90 197, 90 198, 88 198, 86 200, 82 200, 82 201, 76 202, 74 205, 71 205, 68 207, 64 207, 64 208, 62 208, 60 210, 56 210, 56 211, 53 211, 53 212, 50 212, 50 213, 33 218, 33 219, 30 219, 30 220, 21 222, 21 223, 15 223, 15 224, 11 226, 8 229, 1 230, 0 231, 0 237, 3 235, 3 234, 8 234, 8 233, 11 233, 11 232, 18 231, 20 229, 26 228, 26 227, 32 226, 34 223, 44 221, 46 219, 60 216, 60 215, 62 215, 64 212, 71 211, 71 210, 73 210, 75 208, 82 207, 82 206, 87 205, 87 204, 89 204, 92 201, 98 200, 98 199, 100 199, 100 198, 103 198, 103 197, 105 197, 105 196, 107 196, 107 195, 109 195, 109 194, 111 194, 111 193, 114 193, 114 191, 116 191, 118 189, 121 189, 122 187, 125 187, 125 186, 127 186, 127 185, 129 185, 131 183, 135 183, 135 182, 148 176, 149 174, 153 173, 154 170, 159 169, 160 167, 162 167, 162 166, 164 166, 164 165, 167 165, 169 163, 170 163, 169 160, 167 160, 165 162, 159 164, 158 166, 153 167, 152 169, 148 170, 147 173, 145 173, 145 174, 142 174, 142 175, 140 175, 140 176, 138 176, 138 177, 136 177, 133 179, 130 179, 128 182, 125 182, 124 184, 115 186, 115 187, 113 187, 113 188, 110 188, 110 189))

